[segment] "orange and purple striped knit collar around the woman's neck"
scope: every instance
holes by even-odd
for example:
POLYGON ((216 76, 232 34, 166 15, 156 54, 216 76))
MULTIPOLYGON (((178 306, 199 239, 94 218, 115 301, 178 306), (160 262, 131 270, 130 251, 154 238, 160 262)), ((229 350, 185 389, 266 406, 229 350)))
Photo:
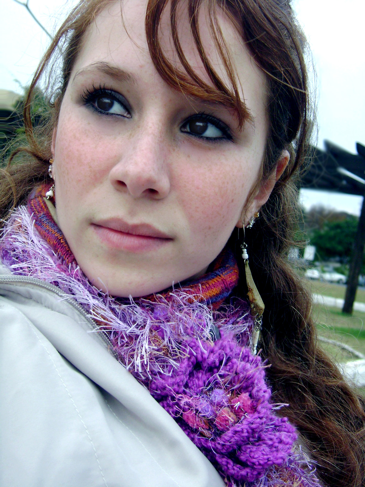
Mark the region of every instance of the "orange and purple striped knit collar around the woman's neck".
MULTIPOLYGON (((41 237, 51 245, 55 253, 67 265, 75 263, 75 258, 66 239, 55 223, 45 201, 45 194, 49 185, 37 187, 28 200, 28 211, 33 214, 34 225, 41 237)), ((183 289, 191 294, 192 300, 205 301, 217 309, 232 293, 238 283, 238 266, 232 251, 225 247, 212 262, 206 274, 194 281, 187 281, 183 289)), ((158 296, 148 296, 149 300, 166 299, 171 288, 159 293, 158 296)))

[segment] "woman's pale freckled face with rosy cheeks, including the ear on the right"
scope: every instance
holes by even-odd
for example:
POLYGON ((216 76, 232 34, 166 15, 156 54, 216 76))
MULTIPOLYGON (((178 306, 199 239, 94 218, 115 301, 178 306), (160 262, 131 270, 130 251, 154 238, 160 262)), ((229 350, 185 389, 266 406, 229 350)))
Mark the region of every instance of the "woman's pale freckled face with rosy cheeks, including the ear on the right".
MULTIPOLYGON (((206 270, 241 225, 267 137, 265 79, 231 22, 220 17, 253 120, 242 131, 232 111, 175 91, 158 75, 145 8, 145 0, 123 2, 128 33, 120 2, 91 24, 53 140, 58 224, 87 277, 122 297, 158 292, 206 270)), ((209 82, 181 12, 185 56, 209 82)), ((226 79, 204 15, 202 9, 204 47, 226 79)), ((162 45, 177 58, 168 35, 162 45)), ((273 184, 261 185, 246 223, 273 184)))

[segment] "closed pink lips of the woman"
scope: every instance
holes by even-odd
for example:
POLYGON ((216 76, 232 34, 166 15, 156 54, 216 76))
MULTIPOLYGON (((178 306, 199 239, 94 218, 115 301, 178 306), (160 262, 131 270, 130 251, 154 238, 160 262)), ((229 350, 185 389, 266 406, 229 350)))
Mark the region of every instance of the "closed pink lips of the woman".
POLYGON ((172 241, 172 238, 148 224, 129 225, 119 218, 92 224, 102 242, 120 250, 146 252, 172 241))

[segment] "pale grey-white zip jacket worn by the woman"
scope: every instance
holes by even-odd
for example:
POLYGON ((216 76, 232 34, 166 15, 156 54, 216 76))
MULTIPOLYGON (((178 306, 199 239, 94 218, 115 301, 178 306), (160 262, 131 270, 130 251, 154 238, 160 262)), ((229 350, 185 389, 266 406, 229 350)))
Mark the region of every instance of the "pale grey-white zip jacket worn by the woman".
POLYGON ((0 486, 224 486, 94 326, 0 266, 0 486))

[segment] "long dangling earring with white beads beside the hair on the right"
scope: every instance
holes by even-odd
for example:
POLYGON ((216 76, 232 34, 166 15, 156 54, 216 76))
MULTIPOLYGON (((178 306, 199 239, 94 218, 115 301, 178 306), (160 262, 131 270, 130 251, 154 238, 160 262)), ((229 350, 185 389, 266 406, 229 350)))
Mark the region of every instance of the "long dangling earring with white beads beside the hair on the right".
POLYGON ((245 264, 246 282, 247 282, 247 290, 248 290, 247 296, 250 301, 251 312, 254 317, 254 329, 252 331, 252 346, 253 346, 254 354, 256 354, 258 337, 262 325, 262 314, 265 309, 265 304, 260 296, 260 293, 258 292, 258 289, 256 287, 256 284, 251 274, 250 266, 248 265, 247 244, 244 241, 244 236, 245 236, 245 227, 243 225, 243 243, 241 244, 242 259, 245 264))

